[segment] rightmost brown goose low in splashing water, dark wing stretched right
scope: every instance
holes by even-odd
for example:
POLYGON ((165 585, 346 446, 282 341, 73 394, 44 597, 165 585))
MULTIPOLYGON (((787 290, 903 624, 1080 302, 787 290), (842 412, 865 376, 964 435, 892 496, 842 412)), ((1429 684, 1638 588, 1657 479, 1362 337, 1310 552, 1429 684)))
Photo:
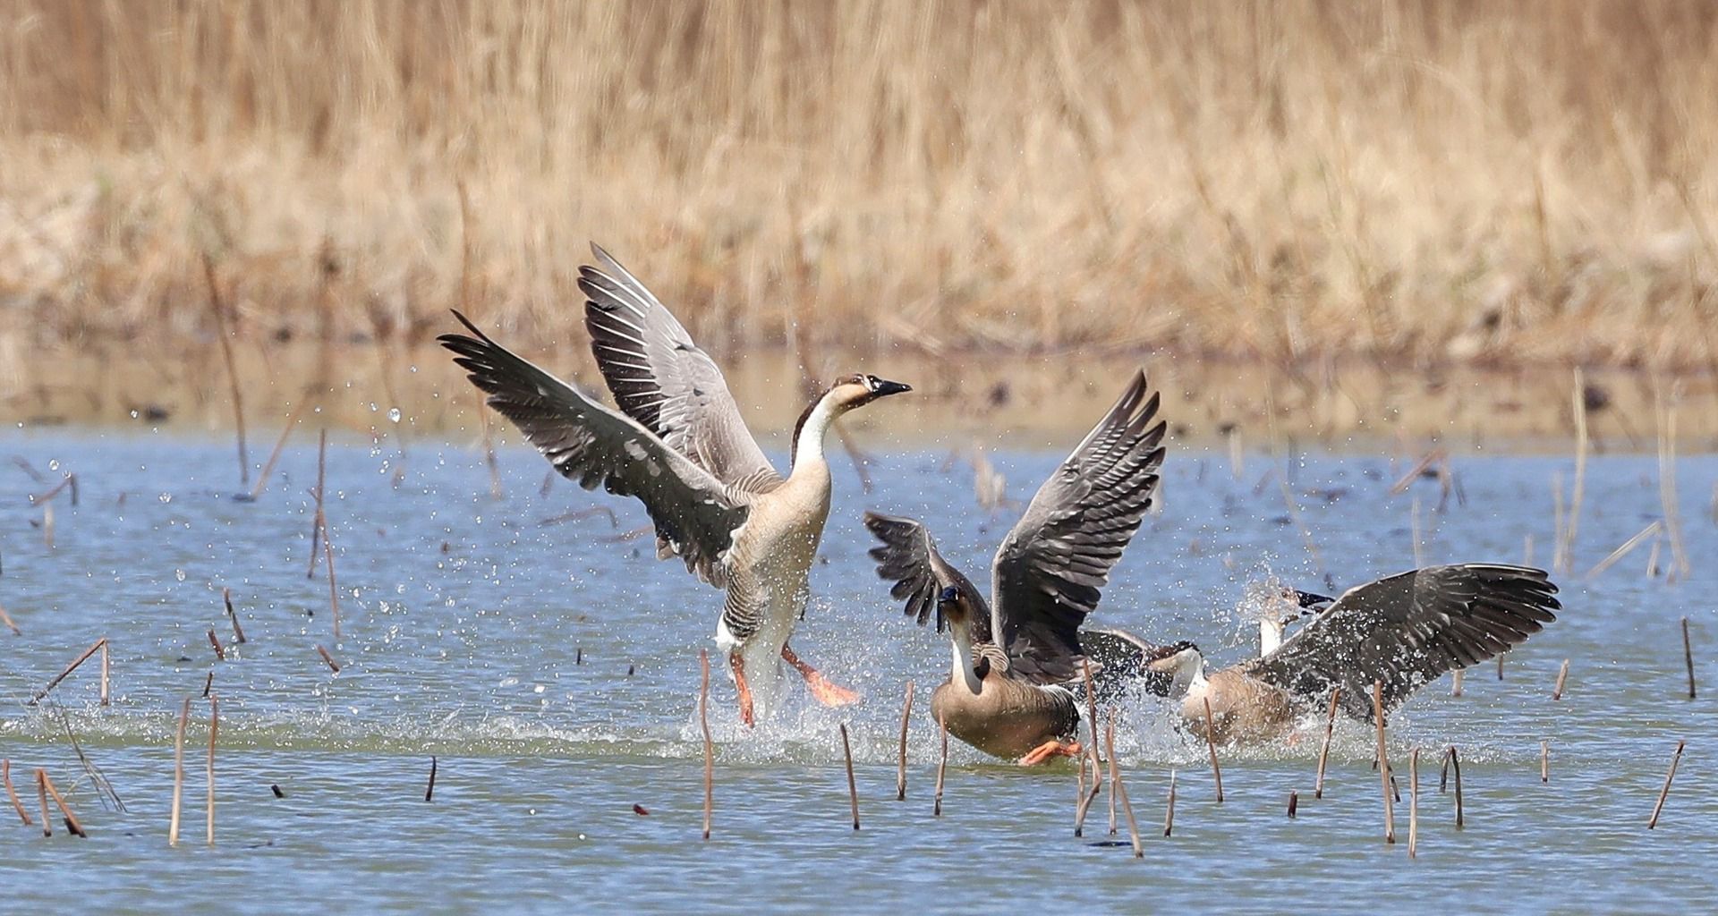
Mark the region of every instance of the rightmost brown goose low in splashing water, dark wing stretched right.
POLYGON ((1328 603, 1295 595, 1313 619, 1287 639, 1283 622, 1268 619, 1259 658, 1206 674, 1192 643, 1149 653, 1146 667, 1168 677, 1167 696, 1180 701, 1192 732, 1209 730, 1218 742, 1280 737, 1331 689, 1340 689, 1345 713, 1371 722, 1373 682, 1383 684, 1383 710, 1390 713, 1443 672, 1522 644, 1562 608, 1544 571, 1496 564, 1398 572, 1328 603))

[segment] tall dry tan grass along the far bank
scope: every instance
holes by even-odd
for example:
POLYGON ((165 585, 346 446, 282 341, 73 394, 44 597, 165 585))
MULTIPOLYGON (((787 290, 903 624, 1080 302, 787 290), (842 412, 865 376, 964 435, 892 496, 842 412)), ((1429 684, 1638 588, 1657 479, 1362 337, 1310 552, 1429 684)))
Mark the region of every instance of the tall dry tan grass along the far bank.
MULTIPOLYGON (((1718 5, 0 0, 33 342, 1718 363, 1718 5), (464 189, 464 206, 462 206, 464 189)), ((15 345, 15 344, 14 344, 15 345)))

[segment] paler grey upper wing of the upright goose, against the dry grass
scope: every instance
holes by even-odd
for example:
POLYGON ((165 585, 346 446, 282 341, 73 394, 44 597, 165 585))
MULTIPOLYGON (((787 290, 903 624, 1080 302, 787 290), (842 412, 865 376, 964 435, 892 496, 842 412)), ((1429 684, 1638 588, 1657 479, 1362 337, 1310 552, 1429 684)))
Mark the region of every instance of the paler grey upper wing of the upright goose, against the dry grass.
POLYGON ((780 486, 715 359, 637 277, 600 246, 591 251, 601 266, 579 268, 584 327, 620 411, 727 486, 780 486))

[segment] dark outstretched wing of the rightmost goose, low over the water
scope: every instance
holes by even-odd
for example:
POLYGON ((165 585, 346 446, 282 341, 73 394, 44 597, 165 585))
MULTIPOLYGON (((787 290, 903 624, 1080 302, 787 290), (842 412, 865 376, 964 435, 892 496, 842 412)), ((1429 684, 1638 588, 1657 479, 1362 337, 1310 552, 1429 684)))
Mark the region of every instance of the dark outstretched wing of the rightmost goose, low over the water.
POLYGON ((1371 722, 1374 681, 1383 682, 1385 710, 1393 710, 1440 674, 1519 646, 1557 620, 1560 607, 1539 569, 1416 569, 1350 588, 1244 670, 1301 696, 1340 687, 1342 708, 1371 722))

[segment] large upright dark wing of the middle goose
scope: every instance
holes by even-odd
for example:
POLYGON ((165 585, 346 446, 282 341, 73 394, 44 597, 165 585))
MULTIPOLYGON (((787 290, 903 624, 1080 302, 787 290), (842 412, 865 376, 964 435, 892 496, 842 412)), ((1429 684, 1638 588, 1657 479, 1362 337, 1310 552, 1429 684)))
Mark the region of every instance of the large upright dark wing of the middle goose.
POLYGON ((1079 626, 1158 490, 1163 421, 1148 392, 1136 371, 996 550, 993 627, 1019 677, 1048 684, 1079 674, 1079 626))

